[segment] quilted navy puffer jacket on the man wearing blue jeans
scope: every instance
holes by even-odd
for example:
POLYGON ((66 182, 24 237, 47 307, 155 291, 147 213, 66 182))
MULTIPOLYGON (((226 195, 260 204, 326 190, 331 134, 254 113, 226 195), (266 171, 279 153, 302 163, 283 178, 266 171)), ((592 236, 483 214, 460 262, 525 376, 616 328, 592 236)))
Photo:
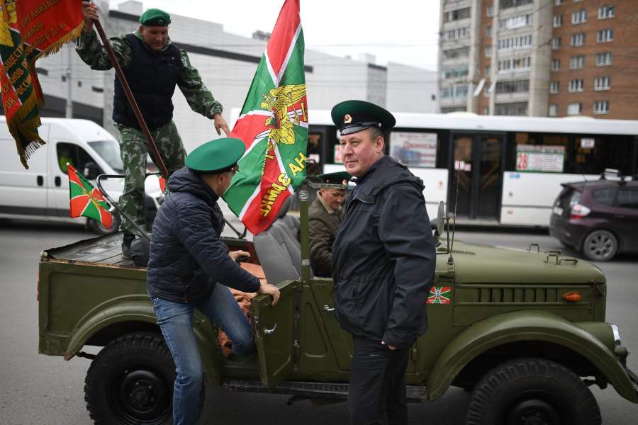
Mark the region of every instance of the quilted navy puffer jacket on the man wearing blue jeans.
POLYGON ((153 222, 148 293, 174 302, 197 302, 216 283, 256 292, 259 280, 230 259, 219 239, 224 220, 216 193, 186 167, 174 172, 168 189, 153 222))

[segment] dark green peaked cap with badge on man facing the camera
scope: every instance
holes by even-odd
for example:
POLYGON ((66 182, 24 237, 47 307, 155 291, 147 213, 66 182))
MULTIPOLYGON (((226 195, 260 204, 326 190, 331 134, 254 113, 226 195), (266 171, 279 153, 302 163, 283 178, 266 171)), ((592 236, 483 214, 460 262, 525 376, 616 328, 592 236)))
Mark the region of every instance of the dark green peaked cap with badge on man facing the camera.
POLYGON ((396 124, 394 116, 381 106, 366 101, 337 103, 330 113, 341 135, 349 135, 366 128, 390 130, 396 124))

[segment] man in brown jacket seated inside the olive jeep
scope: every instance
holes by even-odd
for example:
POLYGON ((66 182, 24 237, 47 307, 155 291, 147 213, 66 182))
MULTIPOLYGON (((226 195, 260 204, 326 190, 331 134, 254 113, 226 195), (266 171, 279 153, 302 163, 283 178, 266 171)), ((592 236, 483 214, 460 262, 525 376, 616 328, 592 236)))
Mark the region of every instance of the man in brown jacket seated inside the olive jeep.
POLYGON ((345 200, 350 176, 340 173, 318 176, 323 186, 308 208, 310 266, 315 276, 332 277, 332 242, 343 219, 341 205, 345 200))

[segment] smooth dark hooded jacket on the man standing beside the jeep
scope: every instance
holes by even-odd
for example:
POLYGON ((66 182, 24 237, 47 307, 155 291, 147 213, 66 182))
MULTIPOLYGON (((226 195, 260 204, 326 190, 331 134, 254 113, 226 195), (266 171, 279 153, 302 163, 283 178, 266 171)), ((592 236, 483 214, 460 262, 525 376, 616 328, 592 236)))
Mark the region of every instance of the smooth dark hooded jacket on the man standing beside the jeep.
POLYGON ((405 166, 384 157, 346 201, 332 276, 337 319, 355 336, 409 348, 427 329, 436 252, 423 187, 405 166))

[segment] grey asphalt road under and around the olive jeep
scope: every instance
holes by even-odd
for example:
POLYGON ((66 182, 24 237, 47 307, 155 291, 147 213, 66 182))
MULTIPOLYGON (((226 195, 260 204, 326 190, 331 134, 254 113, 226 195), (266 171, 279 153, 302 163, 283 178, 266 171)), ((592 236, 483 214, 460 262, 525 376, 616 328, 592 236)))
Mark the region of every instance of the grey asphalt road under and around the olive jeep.
MULTIPOLYGON (((84 376, 89 361, 38 354, 37 266, 40 251, 87 239, 82 227, 0 220, 0 424, 90 424, 84 405, 84 376)), ((546 234, 457 232, 468 242, 527 249, 560 249, 546 234)), ((568 251, 568 255, 576 255, 568 251)), ((608 322, 619 325, 629 351, 629 367, 638 370, 638 256, 599 263, 608 278, 608 322)), ((636 423, 638 406, 615 390, 593 393, 605 425, 636 423)), ((287 405, 289 397, 225 392, 207 387, 200 424, 347 424, 344 403, 313 407, 308 401, 287 405)), ((461 425, 468 395, 455 388, 430 404, 410 404, 410 424, 461 425)))

